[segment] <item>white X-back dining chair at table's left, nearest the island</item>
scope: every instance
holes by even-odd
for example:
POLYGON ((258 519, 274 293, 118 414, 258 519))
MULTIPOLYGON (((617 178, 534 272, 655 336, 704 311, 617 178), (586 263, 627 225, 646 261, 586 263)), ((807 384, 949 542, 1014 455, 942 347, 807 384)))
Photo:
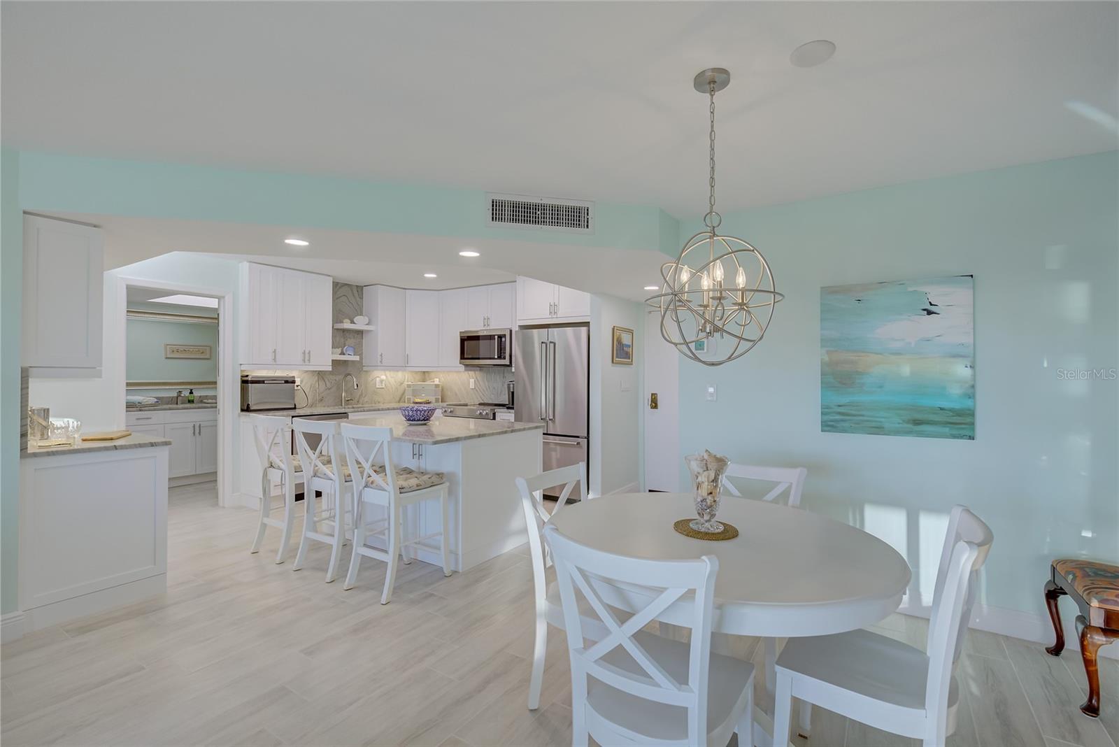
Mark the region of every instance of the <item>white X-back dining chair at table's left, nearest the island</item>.
MULTIPOLYGON (((548 646, 548 625, 563 630, 563 607, 560 603, 560 587, 547 585, 545 569, 552 565, 552 556, 544 547, 540 530, 553 514, 557 513, 568 499, 586 500, 586 462, 572 464, 558 470, 549 470, 532 477, 517 477, 520 505, 525 511, 525 528, 528 530, 528 555, 533 564, 533 593, 536 597, 536 644, 533 646, 533 674, 528 684, 528 708, 535 710, 540 705, 540 682, 544 678, 544 656, 548 646), (544 491, 563 485, 555 508, 548 511, 544 503, 544 491)), ((596 632, 587 621, 592 635, 596 632)))

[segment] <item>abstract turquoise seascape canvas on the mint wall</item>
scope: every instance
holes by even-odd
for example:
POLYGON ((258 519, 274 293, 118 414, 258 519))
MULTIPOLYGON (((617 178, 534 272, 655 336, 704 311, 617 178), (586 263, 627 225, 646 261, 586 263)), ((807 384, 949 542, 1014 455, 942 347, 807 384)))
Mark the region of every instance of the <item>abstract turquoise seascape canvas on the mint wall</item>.
POLYGON ((975 439, 971 275, 820 289, 820 431, 975 439))

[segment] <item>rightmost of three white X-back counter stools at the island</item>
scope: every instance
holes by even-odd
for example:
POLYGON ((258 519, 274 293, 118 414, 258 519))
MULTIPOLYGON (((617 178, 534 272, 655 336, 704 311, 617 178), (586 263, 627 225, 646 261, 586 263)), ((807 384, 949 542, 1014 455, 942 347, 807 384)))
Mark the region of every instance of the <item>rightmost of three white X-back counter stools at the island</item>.
POLYGON ((354 486, 354 551, 350 556, 349 571, 346 574, 344 588, 351 589, 357 580, 361 558, 376 558, 388 564, 385 571, 385 588, 380 594, 380 604, 388 604, 393 596, 393 585, 396 580, 397 557, 404 554, 408 561, 407 547, 422 545, 439 538, 443 559, 443 575, 451 575, 449 556, 450 524, 448 514, 446 477, 442 472, 420 472, 408 467, 394 467, 389 444, 393 441, 392 428, 378 428, 367 425, 342 423, 341 438, 346 448, 346 463, 354 486), (440 527, 436 532, 427 532, 420 537, 404 537, 405 509, 423 501, 439 501, 440 527), (368 510, 374 505, 386 509, 386 516, 369 520, 368 510), (387 550, 369 547, 366 540, 369 536, 385 538, 387 550))

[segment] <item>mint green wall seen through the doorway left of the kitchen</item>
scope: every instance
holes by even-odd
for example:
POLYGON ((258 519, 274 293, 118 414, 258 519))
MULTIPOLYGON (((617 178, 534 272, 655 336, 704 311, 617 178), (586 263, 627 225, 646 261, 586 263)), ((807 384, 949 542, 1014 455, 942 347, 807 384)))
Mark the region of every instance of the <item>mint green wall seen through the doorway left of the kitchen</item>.
MULTIPOLYGON (((126 381, 214 381, 217 379, 217 324, 128 320, 126 381), (209 360, 164 358, 164 344, 208 344, 209 360)), ((137 393, 142 394, 142 393, 137 393)))

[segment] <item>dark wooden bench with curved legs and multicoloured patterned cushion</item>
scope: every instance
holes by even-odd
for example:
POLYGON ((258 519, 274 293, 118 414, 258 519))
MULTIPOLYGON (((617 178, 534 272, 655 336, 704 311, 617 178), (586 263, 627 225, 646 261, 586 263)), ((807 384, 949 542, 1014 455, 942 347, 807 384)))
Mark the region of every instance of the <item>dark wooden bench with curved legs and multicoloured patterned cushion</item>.
POLYGON ((1053 621, 1056 642, 1045 649, 1054 656, 1064 651, 1064 631, 1056 601, 1068 594, 1080 608, 1080 655, 1088 674, 1088 700, 1080 707, 1091 717, 1100 715, 1100 673, 1096 655, 1100 646, 1119 640, 1119 566, 1097 560, 1054 560, 1045 583, 1045 606, 1053 621))

